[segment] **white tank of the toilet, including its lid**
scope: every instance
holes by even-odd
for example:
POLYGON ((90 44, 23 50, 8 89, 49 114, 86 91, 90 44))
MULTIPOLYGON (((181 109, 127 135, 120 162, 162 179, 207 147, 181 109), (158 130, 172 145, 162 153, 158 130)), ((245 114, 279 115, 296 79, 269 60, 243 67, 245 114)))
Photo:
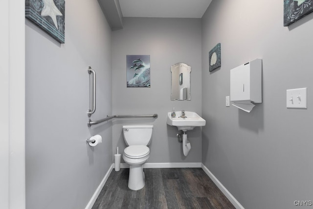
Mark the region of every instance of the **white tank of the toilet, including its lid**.
POLYGON ((124 140, 130 145, 149 145, 152 139, 151 124, 123 125, 124 140))

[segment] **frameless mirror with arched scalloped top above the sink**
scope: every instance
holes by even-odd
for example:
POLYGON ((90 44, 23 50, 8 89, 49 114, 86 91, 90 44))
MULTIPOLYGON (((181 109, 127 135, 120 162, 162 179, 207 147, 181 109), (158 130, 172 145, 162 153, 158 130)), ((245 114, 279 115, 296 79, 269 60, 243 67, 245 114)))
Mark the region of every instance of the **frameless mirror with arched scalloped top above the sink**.
POLYGON ((171 100, 190 99, 190 73, 191 67, 184 63, 171 66, 172 72, 172 94, 171 100))

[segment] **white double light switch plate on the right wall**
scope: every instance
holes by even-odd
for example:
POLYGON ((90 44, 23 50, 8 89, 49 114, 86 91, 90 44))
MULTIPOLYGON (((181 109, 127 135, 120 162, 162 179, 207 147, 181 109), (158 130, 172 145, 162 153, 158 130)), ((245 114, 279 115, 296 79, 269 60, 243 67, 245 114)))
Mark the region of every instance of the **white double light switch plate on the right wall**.
POLYGON ((307 108, 307 88, 288 89, 287 108, 307 108))

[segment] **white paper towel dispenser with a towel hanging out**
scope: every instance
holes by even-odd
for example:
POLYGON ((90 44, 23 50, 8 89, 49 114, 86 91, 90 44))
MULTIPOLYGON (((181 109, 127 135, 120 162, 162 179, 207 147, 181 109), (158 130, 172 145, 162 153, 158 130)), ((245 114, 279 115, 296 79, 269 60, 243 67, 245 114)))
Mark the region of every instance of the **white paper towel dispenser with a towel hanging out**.
POLYGON ((230 101, 250 113, 262 103, 262 59, 255 59, 230 70, 230 101))

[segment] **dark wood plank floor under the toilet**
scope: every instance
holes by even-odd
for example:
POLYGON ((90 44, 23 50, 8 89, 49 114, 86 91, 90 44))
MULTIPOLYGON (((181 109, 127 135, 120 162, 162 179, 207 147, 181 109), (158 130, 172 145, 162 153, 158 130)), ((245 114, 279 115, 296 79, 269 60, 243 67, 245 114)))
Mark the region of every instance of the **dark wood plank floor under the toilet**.
POLYGON ((92 209, 234 209, 202 168, 144 168, 145 186, 130 190, 129 169, 112 171, 92 209))

